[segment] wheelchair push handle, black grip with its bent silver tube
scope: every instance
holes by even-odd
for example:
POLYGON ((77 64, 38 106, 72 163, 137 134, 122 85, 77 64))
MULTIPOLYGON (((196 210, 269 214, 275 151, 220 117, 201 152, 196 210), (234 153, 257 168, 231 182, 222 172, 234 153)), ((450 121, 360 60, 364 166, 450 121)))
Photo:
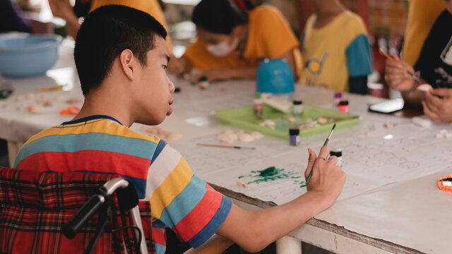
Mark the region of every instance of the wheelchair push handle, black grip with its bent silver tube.
POLYGON ((102 205, 105 204, 107 199, 109 199, 109 195, 112 195, 118 188, 126 188, 127 186, 129 186, 129 182, 124 179, 115 178, 107 181, 107 183, 97 190, 97 193, 93 195, 88 202, 85 202, 69 222, 64 224, 64 236, 69 239, 74 238, 82 226, 96 214, 97 210, 99 210, 102 205))

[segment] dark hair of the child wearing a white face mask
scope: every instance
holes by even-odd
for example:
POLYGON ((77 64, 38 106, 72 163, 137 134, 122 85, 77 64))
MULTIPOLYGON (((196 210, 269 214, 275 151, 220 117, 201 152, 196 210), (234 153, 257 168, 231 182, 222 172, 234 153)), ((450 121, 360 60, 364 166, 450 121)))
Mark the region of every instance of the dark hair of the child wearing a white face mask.
POLYGON ((248 23, 249 16, 232 0, 202 0, 191 20, 208 32, 230 35, 236 25, 248 23))

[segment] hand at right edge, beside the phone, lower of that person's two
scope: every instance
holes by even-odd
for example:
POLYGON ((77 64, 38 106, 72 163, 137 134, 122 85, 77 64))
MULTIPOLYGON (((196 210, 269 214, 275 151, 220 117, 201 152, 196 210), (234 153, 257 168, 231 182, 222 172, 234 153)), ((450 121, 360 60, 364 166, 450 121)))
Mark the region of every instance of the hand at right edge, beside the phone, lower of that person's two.
POLYGON ((424 114, 435 123, 452 122, 452 88, 437 88, 425 92, 422 107, 424 114))

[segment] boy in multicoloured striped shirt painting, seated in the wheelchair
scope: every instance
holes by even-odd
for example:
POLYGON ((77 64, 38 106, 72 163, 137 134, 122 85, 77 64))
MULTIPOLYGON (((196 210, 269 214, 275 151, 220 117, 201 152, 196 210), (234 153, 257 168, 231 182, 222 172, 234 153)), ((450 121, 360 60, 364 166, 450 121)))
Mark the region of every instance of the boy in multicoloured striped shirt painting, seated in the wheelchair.
POLYGON ((37 171, 121 174, 152 207, 153 241, 165 253, 165 226, 194 248, 218 234, 256 252, 285 236, 338 198, 345 173, 337 158, 309 149, 308 192, 285 205, 247 212, 199 179, 164 140, 141 135, 132 123, 156 125, 172 113, 167 33, 147 13, 103 6, 76 38, 74 58, 85 102, 72 120, 28 140, 15 167, 37 171))

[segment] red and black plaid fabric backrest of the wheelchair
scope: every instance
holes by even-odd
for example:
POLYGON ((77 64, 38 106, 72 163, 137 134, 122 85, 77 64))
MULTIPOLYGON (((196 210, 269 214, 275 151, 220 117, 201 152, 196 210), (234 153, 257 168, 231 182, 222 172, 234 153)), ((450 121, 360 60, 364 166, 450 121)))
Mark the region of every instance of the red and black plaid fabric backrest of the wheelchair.
MULTIPOLYGON (((61 227, 113 174, 35 172, 0 167, 0 253, 83 253, 94 236, 95 215, 75 238, 61 227)), ((131 225, 129 211, 119 210, 112 196, 112 228, 131 225)), ((149 202, 140 202, 141 220, 150 253, 155 253, 149 202)), ((94 253, 138 253, 135 229, 105 233, 94 253), (125 244, 125 246, 124 246, 125 244)))

